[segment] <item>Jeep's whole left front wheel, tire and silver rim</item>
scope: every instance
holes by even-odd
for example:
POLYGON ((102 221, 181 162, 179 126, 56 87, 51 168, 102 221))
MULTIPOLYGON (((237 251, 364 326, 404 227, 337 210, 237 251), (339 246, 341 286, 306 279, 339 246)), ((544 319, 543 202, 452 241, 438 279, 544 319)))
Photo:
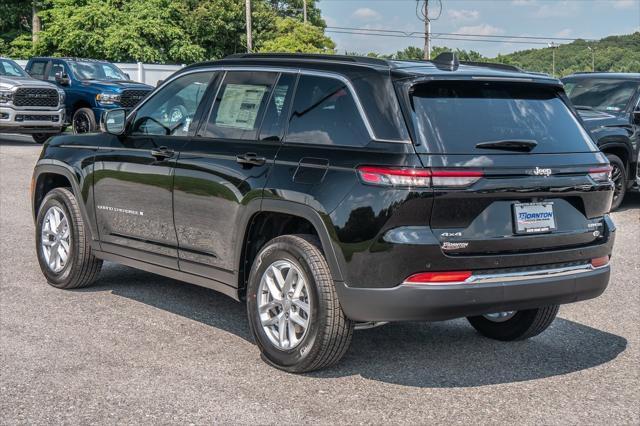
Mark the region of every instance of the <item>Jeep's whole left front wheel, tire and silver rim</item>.
POLYGON ((55 188, 42 201, 36 222, 36 250, 49 284, 72 289, 92 284, 102 260, 91 252, 89 235, 71 191, 55 188))

